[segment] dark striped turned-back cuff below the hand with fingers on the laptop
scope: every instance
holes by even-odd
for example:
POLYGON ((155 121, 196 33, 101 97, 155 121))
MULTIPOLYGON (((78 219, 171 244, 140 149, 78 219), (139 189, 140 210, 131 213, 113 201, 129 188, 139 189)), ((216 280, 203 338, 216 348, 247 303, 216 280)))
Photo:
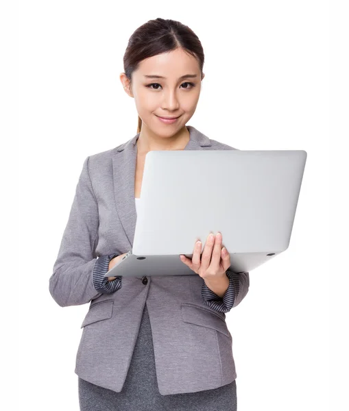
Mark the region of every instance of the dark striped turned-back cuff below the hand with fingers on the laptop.
POLYGON ((223 297, 219 297, 213 290, 210 290, 205 282, 201 290, 204 304, 220 312, 229 312, 232 309, 240 289, 239 273, 227 270, 226 275, 229 278, 229 286, 223 297))

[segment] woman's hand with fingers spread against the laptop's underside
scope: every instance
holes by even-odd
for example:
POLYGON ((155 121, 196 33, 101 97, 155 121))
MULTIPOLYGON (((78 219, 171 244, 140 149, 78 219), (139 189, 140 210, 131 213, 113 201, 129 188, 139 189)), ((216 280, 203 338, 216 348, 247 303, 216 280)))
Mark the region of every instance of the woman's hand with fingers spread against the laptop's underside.
POLYGON ((208 282, 215 282, 215 280, 226 275, 226 271, 230 267, 229 253, 226 247, 221 248, 221 242, 221 233, 217 233, 216 236, 210 234, 206 239, 201 260, 201 241, 195 243, 191 259, 186 258, 183 254, 180 255, 180 259, 200 277, 207 279, 208 282))

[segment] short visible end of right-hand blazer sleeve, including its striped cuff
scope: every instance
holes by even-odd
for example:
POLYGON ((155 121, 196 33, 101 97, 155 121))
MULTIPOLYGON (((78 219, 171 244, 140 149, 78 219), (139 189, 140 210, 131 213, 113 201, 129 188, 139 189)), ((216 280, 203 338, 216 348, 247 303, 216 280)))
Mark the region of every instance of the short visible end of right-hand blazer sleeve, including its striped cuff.
POLYGON ((229 286, 223 297, 210 290, 205 282, 202 284, 204 304, 220 312, 229 312, 233 307, 238 306, 247 295, 250 286, 250 274, 247 272, 234 273, 227 270, 226 275, 229 278, 229 286))

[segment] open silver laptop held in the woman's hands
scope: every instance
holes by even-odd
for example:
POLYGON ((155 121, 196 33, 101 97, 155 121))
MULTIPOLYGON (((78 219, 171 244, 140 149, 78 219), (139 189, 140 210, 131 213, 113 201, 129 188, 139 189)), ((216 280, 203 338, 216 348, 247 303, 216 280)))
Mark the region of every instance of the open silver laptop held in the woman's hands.
MULTIPOLYGON (((230 270, 250 272, 289 247, 304 150, 149 151, 134 242, 105 277, 197 275, 180 260, 222 234, 230 270)), ((223 247, 223 246, 222 246, 223 247)))

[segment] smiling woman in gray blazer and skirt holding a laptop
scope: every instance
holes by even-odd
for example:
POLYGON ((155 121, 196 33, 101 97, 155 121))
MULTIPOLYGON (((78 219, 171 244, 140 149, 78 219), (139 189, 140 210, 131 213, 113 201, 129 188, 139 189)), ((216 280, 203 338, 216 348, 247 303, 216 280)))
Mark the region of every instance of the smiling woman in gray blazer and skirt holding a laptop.
POLYGON ((197 275, 104 277, 132 248, 145 154, 232 149, 186 127, 204 78, 202 46, 189 27, 148 21, 123 61, 137 134, 86 158, 49 285, 60 306, 91 301, 75 368, 80 410, 234 411, 237 374, 224 313, 247 294, 249 273, 228 270, 219 233, 203 251, 195 244, 192 260, 180 256, 197 275))

